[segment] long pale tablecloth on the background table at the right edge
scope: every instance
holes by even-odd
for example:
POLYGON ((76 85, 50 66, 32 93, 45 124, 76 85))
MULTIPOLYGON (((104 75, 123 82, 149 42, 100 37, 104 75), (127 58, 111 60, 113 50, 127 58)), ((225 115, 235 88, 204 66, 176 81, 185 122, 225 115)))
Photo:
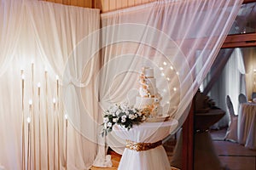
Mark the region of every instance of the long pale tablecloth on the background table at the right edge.
POLYGON ((256 150, 256 104, 241 104, 238 114, 238 143, 256 150))

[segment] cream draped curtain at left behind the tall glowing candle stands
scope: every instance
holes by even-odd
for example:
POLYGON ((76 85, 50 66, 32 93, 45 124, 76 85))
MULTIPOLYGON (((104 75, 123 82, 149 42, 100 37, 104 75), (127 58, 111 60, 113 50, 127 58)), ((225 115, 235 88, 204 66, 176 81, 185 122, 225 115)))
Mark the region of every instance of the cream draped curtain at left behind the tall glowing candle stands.
POLYGON ((4 137, 0 141, 0 164, 6 169, 22 169, 24 157, 25 167, 31 169, 39 169, 39 165, 42 169, 57 169, 58 160, 61 169, 66 160, 67 169, 89 169, 97 150, 94 74, 100 66, 98 57, 90 59, 90 51, 98 47, 99 34, 86 43, 89 45, 83 51, 73 49, 99 29, 100 11, 15 0, 3 1, 0 8, 0 135, 4 137), (86 59, 89 62, 84 68, 86 59), (31 117, 30 135, 28 116, 31 117), (82 134, 80 128, 87 129, 86 133, 82 134))

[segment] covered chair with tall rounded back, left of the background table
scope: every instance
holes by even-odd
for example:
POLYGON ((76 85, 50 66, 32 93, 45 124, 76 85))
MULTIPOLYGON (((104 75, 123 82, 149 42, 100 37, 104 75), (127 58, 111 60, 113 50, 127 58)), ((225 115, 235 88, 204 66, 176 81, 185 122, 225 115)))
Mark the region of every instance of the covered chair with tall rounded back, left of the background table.
POLYGON ((231 142, 236 142, 237 141, 237 120, 238 117, 235 115, 234 112, 234 107, 231 102, 230 96, 227 95, 226 97, 226 105, 229 111, 230 115, 230 122, 229 122, 229 127, 226 132, 224 140, 229 140, 231 142))

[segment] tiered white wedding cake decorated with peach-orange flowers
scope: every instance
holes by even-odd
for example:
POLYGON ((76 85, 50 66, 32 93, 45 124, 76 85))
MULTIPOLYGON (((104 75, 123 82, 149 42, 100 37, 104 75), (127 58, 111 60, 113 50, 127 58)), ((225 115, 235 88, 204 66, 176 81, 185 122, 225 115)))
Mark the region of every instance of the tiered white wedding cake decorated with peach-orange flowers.
POLYGON ((139 77, 139 96, 136 98, 135 107, 147 112, 149 117, 161 115, 160 94, 156 88, 154 69, 143 67, 139 77))

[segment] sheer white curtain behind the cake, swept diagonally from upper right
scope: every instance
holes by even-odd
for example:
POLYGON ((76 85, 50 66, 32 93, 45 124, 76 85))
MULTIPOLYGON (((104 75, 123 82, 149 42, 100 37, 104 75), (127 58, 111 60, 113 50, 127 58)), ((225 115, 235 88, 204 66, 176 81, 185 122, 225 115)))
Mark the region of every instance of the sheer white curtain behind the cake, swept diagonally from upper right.
MULTIPOLYGON (((163 112, 180 127, 240 5, 240 0, 166 0, 102 14, 101 109, 125 100, 134 104, 138 73, 150 66, 163 112)), ((108 139, 119 153, 122 143, 108 139)))

